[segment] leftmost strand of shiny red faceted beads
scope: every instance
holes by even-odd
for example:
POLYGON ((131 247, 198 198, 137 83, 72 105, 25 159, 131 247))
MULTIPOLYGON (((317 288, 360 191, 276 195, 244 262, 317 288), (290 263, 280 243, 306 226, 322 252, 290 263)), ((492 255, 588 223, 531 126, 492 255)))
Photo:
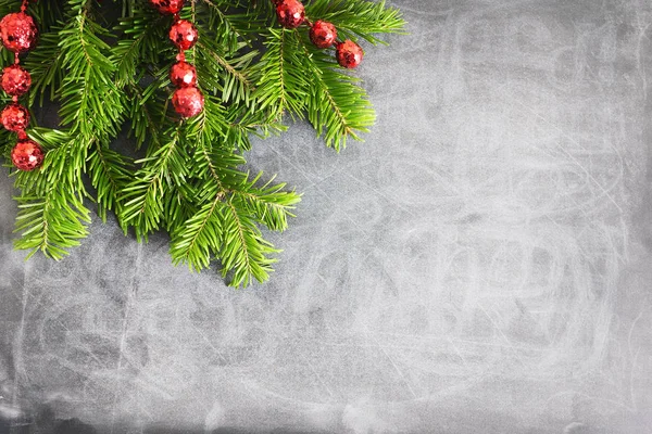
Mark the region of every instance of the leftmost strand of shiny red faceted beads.
POLYGON ((18 97, 27 93, 32 86, 32 76, 20 65, 18 54, 32 50, 38 39, 38 29, 34 18, 25 13, 28 0, 23 1, 21 12, 4 15, 0 21, 0 39, 9 51, 14 53, 14 64, 2 71, 0 81, 2 90, 12 97, 13 102, 2 110, 2 126, 18 135, 18 142, 11 151, 11 161, 20 170, 34 170, 45 159, 42 148, 27 137, 25 129, 29 125, 29 112, 18 104, 18 97))

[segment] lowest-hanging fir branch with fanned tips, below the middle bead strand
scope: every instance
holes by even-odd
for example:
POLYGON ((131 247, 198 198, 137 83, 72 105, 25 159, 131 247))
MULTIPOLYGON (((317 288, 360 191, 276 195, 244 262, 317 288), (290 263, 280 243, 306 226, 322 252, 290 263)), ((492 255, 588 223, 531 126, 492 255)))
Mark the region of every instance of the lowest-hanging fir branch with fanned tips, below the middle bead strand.
POLYGON ((195 140, 188 174, 192 187, 187 190, 195 196, 186 195, 184 201, 198 206, 186 220, 178 220, 181 213, 174 216, 170 253, 175 264, 184 263, 195 270, 208 268, 215 257, 224 276, 233 273, 231 284, 248 285, 267 279, 275 261, 269 256, 277 252, 262 238, 258 225, 286 229, 300 196, 283 192, 283 183, 268 181, 256 187, 262 174, 249 180, 248 174, 238 169, 244 159, 233 152, 233 146, 215 142, 224 135, 225 125, 216 122, 221 113, 223 108, 209 98, 204 114, 189 122, 186 129, 187 138, 195 140))

